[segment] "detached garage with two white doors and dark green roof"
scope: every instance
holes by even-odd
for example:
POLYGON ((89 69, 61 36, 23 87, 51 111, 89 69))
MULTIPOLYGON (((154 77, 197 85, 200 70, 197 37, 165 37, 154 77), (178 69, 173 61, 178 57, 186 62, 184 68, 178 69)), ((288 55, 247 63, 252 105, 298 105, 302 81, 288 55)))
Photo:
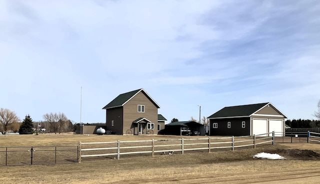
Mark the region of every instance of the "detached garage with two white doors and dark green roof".
POLYGON ((287 118, 270 102, 227 106, 208 117, 210 135, 260 135, 284 132, 284 118, 287 118))

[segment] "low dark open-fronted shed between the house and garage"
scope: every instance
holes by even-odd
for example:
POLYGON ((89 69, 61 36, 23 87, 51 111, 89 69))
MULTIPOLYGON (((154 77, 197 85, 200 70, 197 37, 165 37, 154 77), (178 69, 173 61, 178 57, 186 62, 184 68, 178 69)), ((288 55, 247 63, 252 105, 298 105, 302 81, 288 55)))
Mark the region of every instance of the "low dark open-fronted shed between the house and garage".
POLYGON ((169 135, 204 135, 203 124, 195 121, 175 121, 165 125, 165 134, 169 135))

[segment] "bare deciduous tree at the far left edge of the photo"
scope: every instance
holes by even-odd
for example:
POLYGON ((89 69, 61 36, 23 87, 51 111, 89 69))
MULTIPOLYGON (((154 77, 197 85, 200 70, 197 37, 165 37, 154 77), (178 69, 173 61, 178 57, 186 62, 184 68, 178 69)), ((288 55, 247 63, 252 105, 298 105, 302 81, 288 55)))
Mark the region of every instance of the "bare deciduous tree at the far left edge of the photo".
POLYGON ((6 133, 8 125, 19 121, 20 119, 15 112, 7 108, 0 108, 0 131, 2 134, 6 133))

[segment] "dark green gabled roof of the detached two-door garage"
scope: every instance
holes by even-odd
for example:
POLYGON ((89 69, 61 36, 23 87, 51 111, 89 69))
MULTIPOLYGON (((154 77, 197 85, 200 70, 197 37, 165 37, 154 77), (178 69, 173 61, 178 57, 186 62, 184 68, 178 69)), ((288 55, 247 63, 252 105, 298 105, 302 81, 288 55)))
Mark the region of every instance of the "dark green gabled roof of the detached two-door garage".
MULTIPOLYGON (((208 118, 224 118, 224 117, 249 117, 255 112, 259 111, 266 105, 272 105, 270 102, 266 103, 255 103, 255 104, 247 104, 247 105, 237 105, 237 106, 226 106, 219 111, 213 113, 208 116, 208 118)), ((280 114, 286 118, 286 116, 278 110, 274 105, 272 105, 274 109, 276 109, 280 114)))

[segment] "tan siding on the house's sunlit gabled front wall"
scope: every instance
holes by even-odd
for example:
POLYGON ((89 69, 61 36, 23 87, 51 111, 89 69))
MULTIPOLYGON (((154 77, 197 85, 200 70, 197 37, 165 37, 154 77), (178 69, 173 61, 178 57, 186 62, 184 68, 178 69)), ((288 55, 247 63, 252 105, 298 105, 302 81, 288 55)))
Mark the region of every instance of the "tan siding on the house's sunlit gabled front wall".
MULTIPOLYGON (((142 91, 140 91, 123 105, 123 132, 125 132, 127 129, 131 129, 133 132, 133 127, 135 124, 132 124, 132 121, 139 117, 145 117, 152 123, 154 123, 154 128, 156 130, 158 118, 157 112, 157 107, 152 103, 152 101, 147 98, 147 96, 142 91), (138 112, 137 105, 144 105, 144 112, 138 112)), ((143 133, 145 132, 146 129, 144 129, 143 133)))

